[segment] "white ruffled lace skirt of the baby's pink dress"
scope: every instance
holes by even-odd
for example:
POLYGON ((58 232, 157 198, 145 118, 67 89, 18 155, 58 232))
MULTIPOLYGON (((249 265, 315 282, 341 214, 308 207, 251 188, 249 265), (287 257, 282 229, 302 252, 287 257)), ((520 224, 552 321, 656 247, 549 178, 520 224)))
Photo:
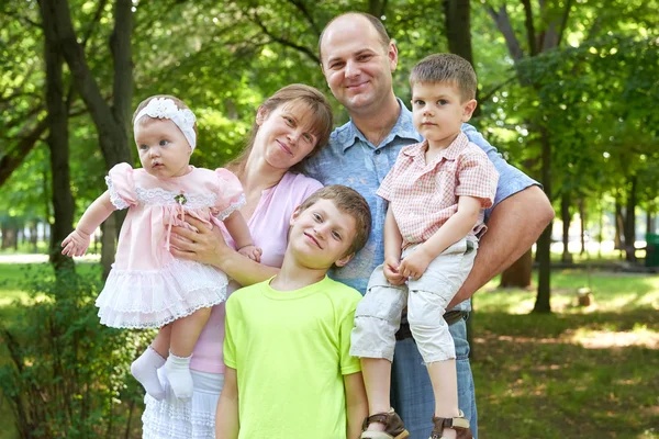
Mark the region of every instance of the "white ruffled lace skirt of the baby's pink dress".
POLYGON ((175 259, 158 270, 112 268, 97 297, 99 317, 113 328, 160 328, 226 300, 226 274, 212 266, 175 259))

